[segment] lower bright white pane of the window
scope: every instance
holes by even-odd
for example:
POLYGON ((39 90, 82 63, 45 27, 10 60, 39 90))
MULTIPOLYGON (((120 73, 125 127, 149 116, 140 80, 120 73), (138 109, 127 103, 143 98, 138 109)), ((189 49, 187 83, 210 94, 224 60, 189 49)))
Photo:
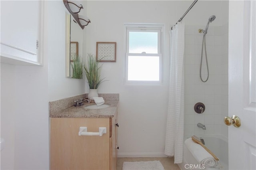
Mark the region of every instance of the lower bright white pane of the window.
POLYGON ((128 56, 128 80, 159 81, 159 56, 128 56))

